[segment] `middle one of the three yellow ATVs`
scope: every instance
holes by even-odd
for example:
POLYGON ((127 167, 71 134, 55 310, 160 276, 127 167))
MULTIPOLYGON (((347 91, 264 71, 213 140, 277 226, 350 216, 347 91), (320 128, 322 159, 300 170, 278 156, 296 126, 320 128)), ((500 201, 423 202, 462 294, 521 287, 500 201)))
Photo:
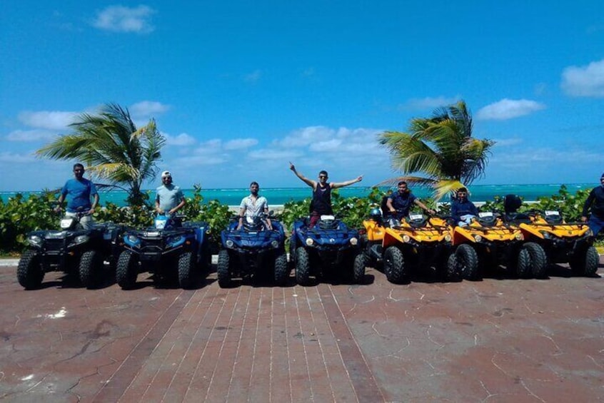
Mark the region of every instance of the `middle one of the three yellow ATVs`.
POLYGON ((457 252, 463 245, 470 246, 478 255, 479 269, 466 272, 465 278, 469 280, 477 279, 487 267, 500 265, 518 277, 545 276, 547 257, 543 248, 525 242, 520 228, 504 223, 498 213, 481 212, 469 225, 455 226, 453 248, 457 252))

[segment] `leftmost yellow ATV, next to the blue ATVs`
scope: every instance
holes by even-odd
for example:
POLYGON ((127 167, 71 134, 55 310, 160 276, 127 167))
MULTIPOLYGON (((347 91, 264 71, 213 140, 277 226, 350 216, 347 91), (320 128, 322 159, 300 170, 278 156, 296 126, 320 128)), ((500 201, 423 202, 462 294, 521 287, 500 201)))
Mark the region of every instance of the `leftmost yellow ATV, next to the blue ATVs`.
POLYGON ((363 226, 361 243, 366 262, 375 266, 382 261, 388 281, 406 282, 411 270, 424 267, 444 271, 448 280, 461 279, 460 271, 448 270, 451 227, 443 218, 411 214, 400 221, 384 220, 376 208, 363 226))

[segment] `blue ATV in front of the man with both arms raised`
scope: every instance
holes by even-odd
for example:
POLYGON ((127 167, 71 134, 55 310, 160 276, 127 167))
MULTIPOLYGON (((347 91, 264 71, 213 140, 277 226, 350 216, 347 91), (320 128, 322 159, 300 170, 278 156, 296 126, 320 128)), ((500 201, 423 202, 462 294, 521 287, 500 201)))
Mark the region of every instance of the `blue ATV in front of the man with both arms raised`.
POLYGON ((358 245, 358 230, 333 215, 321 215, 313 228, 308 225, 309 218, 293 223, 289 247, 296 282, 308 285, 311 275, 318 278, 327 272, 363 282, 366 260, 358 245))

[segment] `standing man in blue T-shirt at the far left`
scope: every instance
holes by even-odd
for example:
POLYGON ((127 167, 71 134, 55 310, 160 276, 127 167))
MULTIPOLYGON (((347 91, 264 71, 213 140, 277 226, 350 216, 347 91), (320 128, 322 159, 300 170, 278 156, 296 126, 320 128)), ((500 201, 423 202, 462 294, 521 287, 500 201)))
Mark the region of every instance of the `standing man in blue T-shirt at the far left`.
POLYGON ((96 192, 94 183, 84 178, 84 165, 81 163, 74 164, 74 179, 69 179, 61 189, 61 195, 59 196, 59 205, 56 206, 55 211, 59 213, 61 211, 61 205, 67 195, 69 195, 69 202, 65 215, 68 217, 75 217, 76 213, 88 213, 80 218, 80 224, 86 230, 90 229, 93 224, 92 214, 97 205, 99 205, 99 193, 96 192), (90 197, 94 200, 91 203, 90 197))

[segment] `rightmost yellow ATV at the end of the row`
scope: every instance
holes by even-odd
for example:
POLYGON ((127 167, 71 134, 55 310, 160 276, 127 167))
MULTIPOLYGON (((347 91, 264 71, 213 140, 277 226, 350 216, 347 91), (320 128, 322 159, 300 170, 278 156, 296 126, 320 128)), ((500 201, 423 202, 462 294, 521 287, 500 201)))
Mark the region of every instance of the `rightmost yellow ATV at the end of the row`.
POLYGON ((518 213, 522 200, 517 195, 506 195, 503 203, 505 220, 518 225, 526 240, 541 245, 550 263, 568 263, 575 275, 591 277, 598 271, 600 256, 587 223, 565 223, 556 210, 518 213))

